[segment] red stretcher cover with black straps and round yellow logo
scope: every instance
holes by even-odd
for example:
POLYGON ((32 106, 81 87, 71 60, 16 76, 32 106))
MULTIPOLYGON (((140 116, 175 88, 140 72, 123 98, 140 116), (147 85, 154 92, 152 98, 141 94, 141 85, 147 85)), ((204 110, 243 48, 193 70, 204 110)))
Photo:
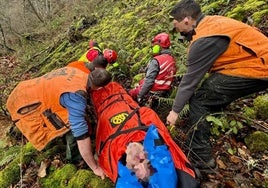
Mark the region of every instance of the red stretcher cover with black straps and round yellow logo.
POLYGON ((188 159, 176 145, 157 114, 147 107, 139 107, 130 95, 116 82, 92 92, 92 100, 98 116, 96 151, 99 164, 105 174, 116 182, 117 163, 129 142, 143 141, 148 126, 154 124, 168 145, 175 167, 195 177, 188 167, 188 159), (120 134, 118 127, 122 126, 120 134))

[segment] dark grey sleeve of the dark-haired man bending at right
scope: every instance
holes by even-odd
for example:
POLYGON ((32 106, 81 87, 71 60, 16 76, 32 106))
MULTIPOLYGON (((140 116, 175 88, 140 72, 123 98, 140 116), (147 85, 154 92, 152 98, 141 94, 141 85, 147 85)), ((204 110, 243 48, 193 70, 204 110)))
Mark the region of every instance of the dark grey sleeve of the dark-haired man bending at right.
POLYGON ((191 45, 187 58, 187 72, 180 82, 173 103, 174 112, 179 113, 183 109, 214 61, 225 52, 228 45, 229 39, 223 36, 201 38, 191 45))

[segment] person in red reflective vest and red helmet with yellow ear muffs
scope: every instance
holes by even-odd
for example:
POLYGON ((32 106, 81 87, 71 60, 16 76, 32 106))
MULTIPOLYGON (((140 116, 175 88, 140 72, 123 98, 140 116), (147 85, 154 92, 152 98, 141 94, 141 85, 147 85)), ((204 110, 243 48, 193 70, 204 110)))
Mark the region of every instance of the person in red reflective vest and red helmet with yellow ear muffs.
POLYGON ((166 97, 171 89, 171 84, 176 75, 176 60, 169 49, 171 43, 167 33, 157 34, 153 40, 153 58, 150 60, 146 75, 139 85, 131 90, 129 94, 139 103, 147 99, 149 93, 166 97))

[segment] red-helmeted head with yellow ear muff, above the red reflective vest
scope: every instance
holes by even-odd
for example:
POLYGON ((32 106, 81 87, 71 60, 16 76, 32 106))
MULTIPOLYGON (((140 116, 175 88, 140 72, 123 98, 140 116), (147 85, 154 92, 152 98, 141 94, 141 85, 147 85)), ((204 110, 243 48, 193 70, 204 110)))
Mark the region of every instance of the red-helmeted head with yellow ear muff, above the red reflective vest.
POLYGON ((152 40, 152 45, 154 55, 159 54, 162 49, 168 49, 171 45, 169 35, 167 33, 157 34, 152 40))

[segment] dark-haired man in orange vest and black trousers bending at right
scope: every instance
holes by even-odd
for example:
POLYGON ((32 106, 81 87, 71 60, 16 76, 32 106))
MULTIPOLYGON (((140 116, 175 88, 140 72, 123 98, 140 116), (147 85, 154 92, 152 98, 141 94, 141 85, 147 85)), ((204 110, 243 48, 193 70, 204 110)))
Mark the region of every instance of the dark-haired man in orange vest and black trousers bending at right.
POLYGON ((240 97, 268 88, 268 38, 240 21, 204 15, 193 0, 180 1, 170 15, 176 31, 191 43, 187 72, 166 121, 174 125, 189 101, 187 126, 195 126, 187 141, 192 161, 200 169, 214 168, 210 123, 205 117, 240 97), (207 72, 209 76, 198 88, 207 72))

